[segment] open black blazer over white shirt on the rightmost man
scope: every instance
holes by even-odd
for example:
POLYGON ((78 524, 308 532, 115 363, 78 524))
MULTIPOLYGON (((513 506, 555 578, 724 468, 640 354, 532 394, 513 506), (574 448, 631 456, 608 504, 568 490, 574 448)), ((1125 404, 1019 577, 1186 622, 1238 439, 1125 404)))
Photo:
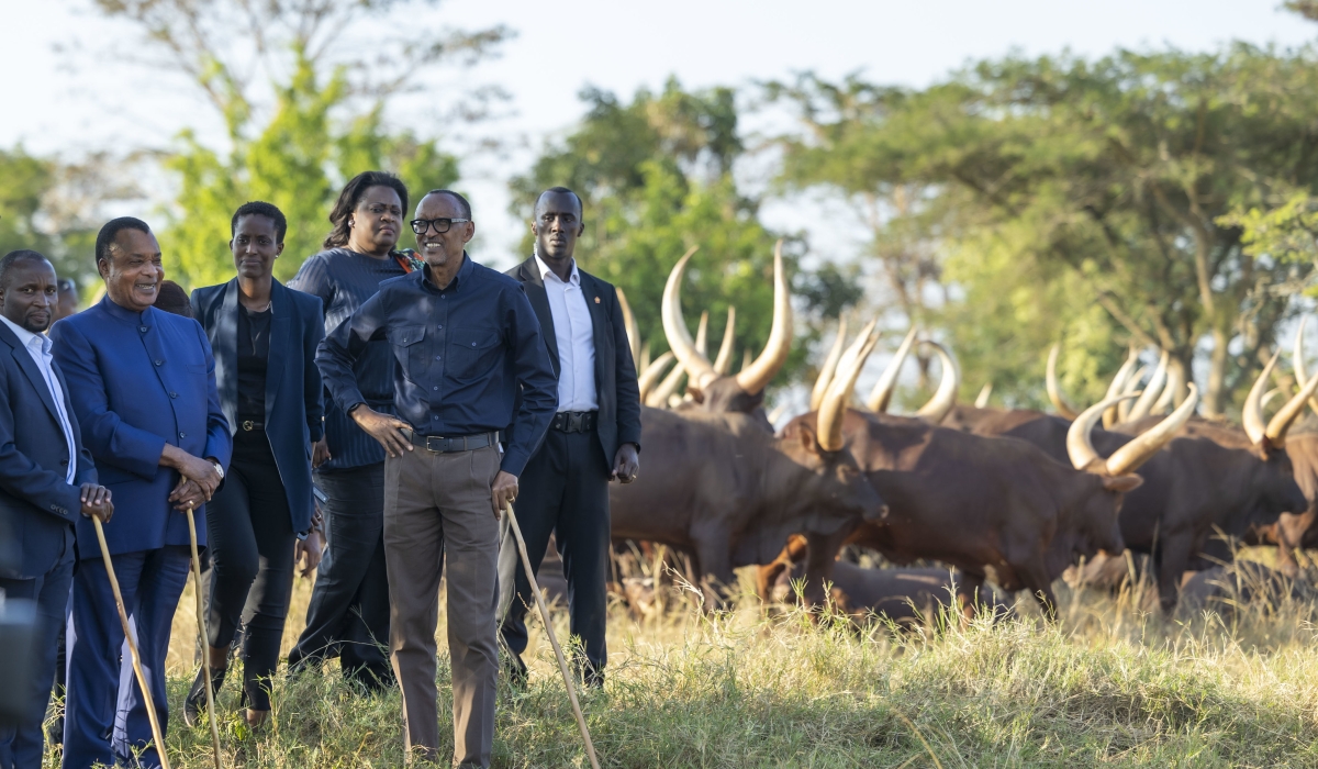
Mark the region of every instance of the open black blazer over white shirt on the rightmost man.
MULTIPOLYGON (((594 338, 594 389, 600 402, 600 417, 596 421, 596 434, 604 448, 604 462, 613 470, 613 458, 618 446, 635 443, 641 448, 641 389, 637 383, 637 364, 631 360, 631 346, 627 344, 627 328, 622 322, 622 309, 618 306, 618 292, 608 284, 585 272, 580 266, 581 294, 590 309, 590 331, 594 338)), ((550 363, 554 376, 559 376, 559 342, 554 335, 554 315, 550 311, 550 295, 544 293, 544 281, 535 264, 535 257, 507 270, 526 290, 531 309, 540 321, 540 336, 550 348, 550 363)))

